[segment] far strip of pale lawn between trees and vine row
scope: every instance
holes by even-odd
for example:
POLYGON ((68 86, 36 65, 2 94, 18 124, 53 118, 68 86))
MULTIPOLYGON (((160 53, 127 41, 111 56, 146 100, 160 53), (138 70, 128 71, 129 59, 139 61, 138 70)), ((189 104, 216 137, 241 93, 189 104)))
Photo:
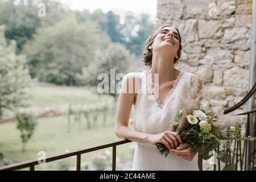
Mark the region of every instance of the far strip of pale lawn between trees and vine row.
MULTIPOLYGON (((67 112, 69 104, 72 108, 108 105, 115 107, 114 98, 108 94, 98 94, 97 87, 88 86, 59 86, 42 82, 32 82, 28 89, 30 100, 27 101, 28 107, 20 108, 39 114, 44 109, 53 109, 67 112)), ((4 111, 4 115, 13 114, 11 111, 4 111)))

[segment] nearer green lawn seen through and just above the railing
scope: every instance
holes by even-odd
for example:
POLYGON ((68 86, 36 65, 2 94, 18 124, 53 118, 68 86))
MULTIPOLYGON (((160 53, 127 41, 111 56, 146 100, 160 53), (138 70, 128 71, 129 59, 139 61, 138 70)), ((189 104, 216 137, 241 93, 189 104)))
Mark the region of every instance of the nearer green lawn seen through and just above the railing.
MULTIPOLYGON (((77 123, 67 133, 67 117, 52 117, 38 119, 38 125, 31 140, 26 146, 26 151, 21 152, 19 131, 16 130, 16 122, 3 123, 0 126, 0 148, 6 159, 13 163, 35 160, 39 158, 38 152, 45 151, 47 156, 64 154, 66 151, 76 151, 83 148, 98 146, 101 144, 119 140, 114 135, 114 126, 108 118, 108 125, 102 127, 100 123, 93 129, 86 129, 85 123, 78 128, 77 123)), ((130 145, 124 144, 117 147, 117 156, 122 157, 131 154, 130 145)), ((108 148, 112 152, 112 148, 108 148)), ((106 150, 101 150, 105 153, 106 150)), ((91 160, 92 155, 98 151, 81 156, 82 162, 91 160)), ((109 155, 110 158, 112 154, 109 155)), ((71 166, 75 166, 76 158, 65 159, 71 166)), ((61 161, 61 160, 60 160, 61 161)), ((51 162, 40 165, 36 169, 59 169, 60 162, 51 162)))

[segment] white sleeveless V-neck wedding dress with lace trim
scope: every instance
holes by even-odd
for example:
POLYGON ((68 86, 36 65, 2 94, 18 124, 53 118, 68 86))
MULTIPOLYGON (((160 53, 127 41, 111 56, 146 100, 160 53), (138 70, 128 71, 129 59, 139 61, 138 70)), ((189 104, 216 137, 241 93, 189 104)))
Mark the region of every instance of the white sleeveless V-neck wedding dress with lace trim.
MULTIPOLYGON (((180 110, 179 94, 185 96, 191 87, 192 73, 180 72, 174 86, 161 104, 155 96, 151 76, 147 71, 140 74, 139 92, 134 105, 134 130, 149 134, 159 134, 170 130, 180 110)), ((199 170, 197 155, 192 162, 169 153, 161 155, 156 146, 137 143, 132 170, 199 170)))

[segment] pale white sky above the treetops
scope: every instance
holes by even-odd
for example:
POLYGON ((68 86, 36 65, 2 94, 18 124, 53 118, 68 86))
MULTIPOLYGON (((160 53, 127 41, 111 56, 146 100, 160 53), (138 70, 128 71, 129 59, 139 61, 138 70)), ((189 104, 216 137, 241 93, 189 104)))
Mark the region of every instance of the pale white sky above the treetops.
POLYGON ((157 0, 57 0, 68 5, 72 10, 101 9, 105 13, 113 10, 122 14, 123 11, 132 11, 135 15, 150 14, 155 21, 157 0))

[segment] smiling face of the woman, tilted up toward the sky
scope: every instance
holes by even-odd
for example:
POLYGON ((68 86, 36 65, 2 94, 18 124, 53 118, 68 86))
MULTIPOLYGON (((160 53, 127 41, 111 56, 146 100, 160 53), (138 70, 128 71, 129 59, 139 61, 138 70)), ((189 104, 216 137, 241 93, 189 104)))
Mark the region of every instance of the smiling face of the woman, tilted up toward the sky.
POLYGON ((179 32, 173 27, 163 27, 155 36, 154 42, 150 49, 159 51, 161 53, 167 53, 173 57, 177 56, 177 52, 180 46, 179 32))

